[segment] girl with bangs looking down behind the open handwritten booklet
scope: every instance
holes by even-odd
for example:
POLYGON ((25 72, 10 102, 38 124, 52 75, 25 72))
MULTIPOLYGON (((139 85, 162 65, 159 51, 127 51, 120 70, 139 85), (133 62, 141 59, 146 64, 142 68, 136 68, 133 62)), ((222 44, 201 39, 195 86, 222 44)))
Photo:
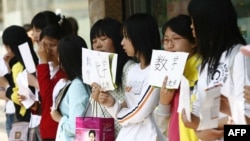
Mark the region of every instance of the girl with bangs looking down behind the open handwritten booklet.
MULTIPOLYGON (((92 49, 96 51, 110 52, 118 54, 117 71, 116 71, 116 86, 117 88, 111 92, 119 101, 124 100, 124 87, 126 76, 125 74, 129 70, 130 66, 134 64, 134 61, 130 59, 124 52, 121 46, 122 35, 121 30, 122 24, 112 18, 104 18, 98 20, 90 30, 90 41, 92 49), (130 60, 129 60, 130 59, 130 60)), ((97 106, 97 115, 111 117, 105 107, 97 106)), ((116 136, 120 131, 121 125, 115 121, 115 133, 116 136)))

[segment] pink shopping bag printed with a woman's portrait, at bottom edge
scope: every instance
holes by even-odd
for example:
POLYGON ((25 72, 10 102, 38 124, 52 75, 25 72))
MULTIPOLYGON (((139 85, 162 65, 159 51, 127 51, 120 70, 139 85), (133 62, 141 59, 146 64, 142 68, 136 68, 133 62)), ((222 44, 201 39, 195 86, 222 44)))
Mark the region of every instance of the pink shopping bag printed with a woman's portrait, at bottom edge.
POLYGON ((115 129, 114 129, 113 118, 76 117, 75 141, 114 141, 114 140, 115 140, 115 129))

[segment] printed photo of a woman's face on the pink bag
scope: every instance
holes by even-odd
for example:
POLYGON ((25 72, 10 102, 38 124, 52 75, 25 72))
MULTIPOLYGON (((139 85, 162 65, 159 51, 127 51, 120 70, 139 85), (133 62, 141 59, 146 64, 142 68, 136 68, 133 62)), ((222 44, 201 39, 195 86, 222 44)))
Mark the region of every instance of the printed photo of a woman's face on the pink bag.
POLYGON ((99 129, 76 129, 75 141, 99 141, 99 129))

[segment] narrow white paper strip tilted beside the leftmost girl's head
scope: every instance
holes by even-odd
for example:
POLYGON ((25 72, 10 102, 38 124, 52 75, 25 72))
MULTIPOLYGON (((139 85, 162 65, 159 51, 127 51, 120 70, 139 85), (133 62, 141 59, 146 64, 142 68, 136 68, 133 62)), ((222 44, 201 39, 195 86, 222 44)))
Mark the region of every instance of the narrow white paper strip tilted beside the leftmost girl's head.
POLYGON ((29 49, 29 44, 27 42, 20 44, 18 46, 19 51, 21 53, 21 56, 24 61, 24 65, 29 73, 34 73, 36 72, 36 66, 34 63, 34 60, 32 58, 30 49, 29 49))

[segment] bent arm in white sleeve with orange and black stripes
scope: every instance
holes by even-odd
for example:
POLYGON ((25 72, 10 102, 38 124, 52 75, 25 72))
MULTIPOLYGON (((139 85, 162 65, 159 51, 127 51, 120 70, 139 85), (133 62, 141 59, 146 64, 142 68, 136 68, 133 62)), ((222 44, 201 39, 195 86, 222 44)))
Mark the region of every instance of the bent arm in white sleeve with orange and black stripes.
MULTIPOLYGON (((93 95, 93 85, 92 95, 93 95)), ((96 88, 94 88, 96 89, 96 88)), ((147 80, 143 85, 140 95, 140 99, 137 100, 137 104, 124 106, 119 103, 118 100, 112 97, 112 95, 101 92, 99 93, 99 102, 106 106, 107 111, 122 125, 133 124, 142 122, 152 111, 154 111, 156 105, 159 103, 159 89, 148 85, 147 80), (100 100, 101 99, 101 100, 100 100)), ((127 105, 127 104, 126 104, 127 105)))

